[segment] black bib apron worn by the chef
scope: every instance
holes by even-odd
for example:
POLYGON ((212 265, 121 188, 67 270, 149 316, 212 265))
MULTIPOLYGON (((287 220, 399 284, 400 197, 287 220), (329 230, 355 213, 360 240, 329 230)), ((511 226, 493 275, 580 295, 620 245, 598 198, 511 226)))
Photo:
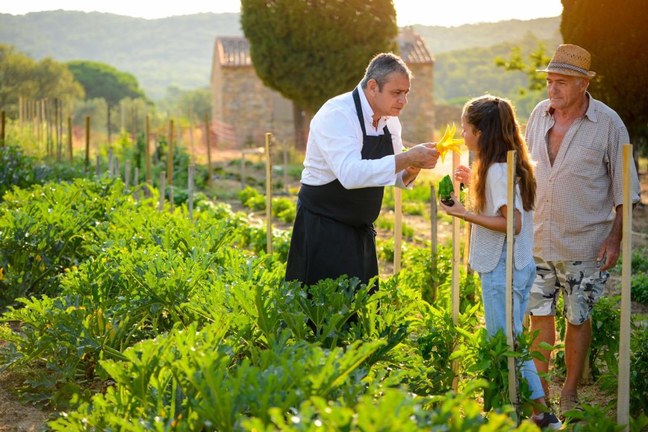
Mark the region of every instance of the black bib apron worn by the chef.
MULTIPOLYGON (((384 135, 367 135, 357 88, 353 101, 362 128, 362 159, 393 155, 387 126, 384 135)), ((338 179, 321 186, 301 185, 286 280, 310 286, 321 279, 347 275, 368 285, 378 275, 373 222, 380 214, 383 193, 384 187, 347 189, 338 179)), ((377 281, 369 292, 376 290, 377 281)))

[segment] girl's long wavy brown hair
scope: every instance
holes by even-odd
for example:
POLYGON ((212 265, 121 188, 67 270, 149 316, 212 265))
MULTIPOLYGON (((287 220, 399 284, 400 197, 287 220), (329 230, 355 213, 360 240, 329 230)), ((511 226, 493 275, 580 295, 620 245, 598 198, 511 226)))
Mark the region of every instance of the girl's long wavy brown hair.
POLYGON ((506 152, 516 150, 515 175, 520 186, 522 207, 533 210, 535 201, 535 176, 529 162, 526 142, 520 134, 515 111, 507 99, 485 95, 466 102, 463 115, 470 126, 480 131, 477 141, 477 157, 472 166, 470 192, 476 212, 482 212, 486 201, 486 175, 491 165, 506 161, 506 152))

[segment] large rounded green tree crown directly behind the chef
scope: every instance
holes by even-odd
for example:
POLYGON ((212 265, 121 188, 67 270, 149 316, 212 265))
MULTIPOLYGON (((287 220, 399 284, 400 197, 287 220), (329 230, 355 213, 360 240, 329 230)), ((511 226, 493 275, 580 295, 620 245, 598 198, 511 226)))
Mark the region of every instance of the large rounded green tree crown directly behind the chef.
POLYGON ((241 27, 262 82, 312 112, 353 89, 376 53, 397 49, 391 0, 244 0, 241 27))

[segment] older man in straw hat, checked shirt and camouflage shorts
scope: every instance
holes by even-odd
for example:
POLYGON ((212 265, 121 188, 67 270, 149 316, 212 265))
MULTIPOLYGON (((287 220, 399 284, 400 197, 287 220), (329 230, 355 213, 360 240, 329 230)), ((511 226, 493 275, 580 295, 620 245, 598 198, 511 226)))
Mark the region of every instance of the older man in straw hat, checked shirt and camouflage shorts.
MULTIPOLYGON (((537 276, 527 313, 535 341, 555 343, 554 315, 562 291, 567 321, 567 377, 560 398, 560 416, 578 409, 577 385, 592 339, 590 317, 599 301, 607 272, 619 257, 621 242, 621 144, 628 131, 616 112, 586 91, 590 53, 576 45, 560 45, 547 73, 548 99, 531 113, 526 141, 535 161, 537 276), (616 214, 614 211, 616 210, 616 214)), ((639 181, 632 165, 633 204, 639 181)), ((550 352, 538 349, 546 358, 550 352)), ((548 364, 536 360, 538 372, 548 364)), ((542 380, 548 393, 546 381, 542 380)))

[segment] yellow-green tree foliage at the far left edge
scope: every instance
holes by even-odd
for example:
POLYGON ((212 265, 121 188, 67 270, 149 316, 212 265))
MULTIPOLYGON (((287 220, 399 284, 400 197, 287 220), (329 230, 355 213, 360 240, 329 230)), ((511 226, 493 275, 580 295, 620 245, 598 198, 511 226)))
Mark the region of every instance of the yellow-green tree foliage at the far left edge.
POLYGON ((60 98, 72 100, 84 95, 83 87, 63 63, 52 58, 36 62, 11 45, 0 44, 0 106, 14 106, 17 117, 18 98, 60 98))

